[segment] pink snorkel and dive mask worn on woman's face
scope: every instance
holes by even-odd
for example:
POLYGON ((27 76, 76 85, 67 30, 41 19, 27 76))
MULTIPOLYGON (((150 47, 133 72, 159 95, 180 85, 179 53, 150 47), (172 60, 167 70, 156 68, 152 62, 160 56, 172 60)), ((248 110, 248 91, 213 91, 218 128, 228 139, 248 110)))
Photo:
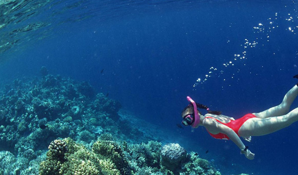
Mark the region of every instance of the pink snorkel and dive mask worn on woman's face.
POLYGON ((191 125, 193 128, 198 127, 200 124, 200 116, 197 112, 196 102, 193 101, 189 96, 186 97, 190 104, 185 109, 185 114, 183 114, 182 124, 184 126, 191 125))

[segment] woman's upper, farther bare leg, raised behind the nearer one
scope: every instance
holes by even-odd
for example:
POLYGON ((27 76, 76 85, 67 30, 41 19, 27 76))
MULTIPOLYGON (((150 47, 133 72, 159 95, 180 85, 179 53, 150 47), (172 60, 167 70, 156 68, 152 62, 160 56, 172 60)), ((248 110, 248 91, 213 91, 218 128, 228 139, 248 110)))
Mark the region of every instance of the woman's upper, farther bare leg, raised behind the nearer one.
POLYGON ((295 85, 290 91, 285 95, 282 103, 278 106, 272 107, 261 113, 254 113, 258 118, 267 118, 275 116, 283 116, 287 114, 290 107, 298 95, 298 85, 295 85))

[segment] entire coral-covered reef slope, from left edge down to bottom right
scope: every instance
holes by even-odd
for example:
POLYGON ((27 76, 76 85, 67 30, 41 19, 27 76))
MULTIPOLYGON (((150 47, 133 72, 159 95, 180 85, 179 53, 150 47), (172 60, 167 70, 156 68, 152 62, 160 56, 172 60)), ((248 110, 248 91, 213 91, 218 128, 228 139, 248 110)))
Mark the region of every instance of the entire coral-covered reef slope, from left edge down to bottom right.
POLYGON ((221 175, 89 83, 40 75, 0 88, 0 175, 221 175))

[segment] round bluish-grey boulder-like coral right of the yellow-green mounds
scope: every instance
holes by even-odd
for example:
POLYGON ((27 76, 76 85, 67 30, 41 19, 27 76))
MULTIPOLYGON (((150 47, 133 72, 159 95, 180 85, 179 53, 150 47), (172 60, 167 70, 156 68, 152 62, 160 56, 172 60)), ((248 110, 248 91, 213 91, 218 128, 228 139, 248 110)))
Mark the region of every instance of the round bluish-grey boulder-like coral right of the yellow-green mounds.
POLYGON ((169 143, 161 148, 161 165, 173 169, 186 158, 186 150, 178 143, 169 143))

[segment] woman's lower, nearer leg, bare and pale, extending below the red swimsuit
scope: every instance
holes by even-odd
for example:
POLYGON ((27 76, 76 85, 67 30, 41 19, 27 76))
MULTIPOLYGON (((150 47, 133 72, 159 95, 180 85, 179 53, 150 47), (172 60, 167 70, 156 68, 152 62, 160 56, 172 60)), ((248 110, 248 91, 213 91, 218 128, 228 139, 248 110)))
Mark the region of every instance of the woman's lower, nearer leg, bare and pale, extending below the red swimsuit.
POLYGON ((290 113, 268 118, 250 118, 240 127, 238 134, 242 137, 270 134, 298 121, 298 108, 290 113))

